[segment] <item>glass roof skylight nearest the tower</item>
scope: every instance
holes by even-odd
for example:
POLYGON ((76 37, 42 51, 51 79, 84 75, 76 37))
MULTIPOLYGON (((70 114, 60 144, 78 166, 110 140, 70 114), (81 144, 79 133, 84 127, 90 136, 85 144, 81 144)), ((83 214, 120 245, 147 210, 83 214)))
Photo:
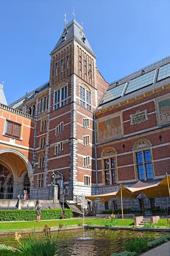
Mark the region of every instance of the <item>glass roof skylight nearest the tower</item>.
POLYGON ((109 102, 113 99, 116 99, 120 96, 122 96, 122 93, 123 93, 123 90, 126 86, 127 82, 125 82, 124 84, 120 84, 110 90, 107 90, 103 99, 102 99, 102 102, 100 104, 103 104, 105 102, 109 102))

